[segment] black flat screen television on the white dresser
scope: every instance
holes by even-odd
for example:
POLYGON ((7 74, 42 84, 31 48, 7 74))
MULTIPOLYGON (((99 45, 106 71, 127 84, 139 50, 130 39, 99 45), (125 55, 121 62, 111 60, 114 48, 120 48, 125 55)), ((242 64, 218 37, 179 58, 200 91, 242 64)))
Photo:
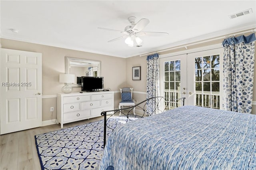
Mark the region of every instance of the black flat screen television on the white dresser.
POLYGON ((93 92, 103 90, 104 78, 103 77, 81 77, 82 91, 93 92))

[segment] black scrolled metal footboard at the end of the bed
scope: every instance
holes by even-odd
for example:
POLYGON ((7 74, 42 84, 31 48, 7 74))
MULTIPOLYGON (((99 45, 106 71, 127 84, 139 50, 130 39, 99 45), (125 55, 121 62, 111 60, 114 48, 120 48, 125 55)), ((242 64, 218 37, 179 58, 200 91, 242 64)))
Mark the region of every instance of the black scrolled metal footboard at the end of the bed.
MULTIPOLYGON (((169 100, 166 100, 165 97, 161 97, 161 96, 160 97, 152 97, 152 98, 148 98, 148 99, 146 99, 146 100, 144 100, 144 101, 142 101, 142 102, 140 102, 140 103, 138 103, 138 104, 136 104, 134 106, 131 106, 131 107, 126 107, 126 108, 123 108, 123 109, 115 109, 115 110, 102 111, 101 115, 104 116, 104 147, 106 145, 107 121, 115 113, 120 112, 123 115, 125 115, 127 117, 127 119, 126 119, 126 122, 127 122, 128 120, 131 120, 131 119, 129 119, 129 113, 133 114, 133 109, 134 108, 138 108, 138 109, 140 108, 141 111, 143 111, 143 115, 142 116, 136 115, 136 117, 142 118, 142 117, 144 117, 144 115, 149 116, 149 115, 153 115, 153 113, 162 113, 162 112, 166 111, 166 109, 170 105, 170 103, 174 104, 174 108, 176 108, 176 107, 178 107, 178 102, 181 101, 182 103, 180 103, 180 104, 182 104, 182 106, 184 106, 184 100, 185 99, 186 98, 183 97, 183 98, 178 98, 178 99, 172 99, 172 100, 169 101, 169 100), (167 103, 163 110, 160 110, 160 102, 167 103), (148 112, 146 110, 146 106, 149 105, 149 104, 152 104, 152 103, 156 104, 156 108, 154 110, 148 112), (123 110, 128 110, 128 112, 124 113, 123 110), (107 113, 109 113, 109 112, 112 112, 112 114, 107 119, 107 113)), ((108 127, 108 128, 110 128, 110 127, 108 127)), ((112 128, 110 128, 110 129, 112 129, 112 128)))

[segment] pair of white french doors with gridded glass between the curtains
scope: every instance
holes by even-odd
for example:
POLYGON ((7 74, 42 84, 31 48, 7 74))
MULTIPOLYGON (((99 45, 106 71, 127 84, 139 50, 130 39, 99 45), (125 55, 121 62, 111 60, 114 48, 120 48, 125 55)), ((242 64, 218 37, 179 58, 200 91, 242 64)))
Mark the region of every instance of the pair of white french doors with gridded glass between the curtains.
POLYGON ((160 56, 160 94, 168 109, 184 105, 222 109, 223 49, 160 56), (170 102, 173 101, 173 102, 170 102), (170 104, 168 104, 170 102, 170 104))

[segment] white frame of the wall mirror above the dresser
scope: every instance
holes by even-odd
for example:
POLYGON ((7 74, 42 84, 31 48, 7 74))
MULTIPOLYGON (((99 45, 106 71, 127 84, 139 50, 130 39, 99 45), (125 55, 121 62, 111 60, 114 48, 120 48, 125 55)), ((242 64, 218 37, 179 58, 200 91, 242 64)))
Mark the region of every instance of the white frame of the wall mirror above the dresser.
MULTIPOLYGON (((98 63, 98 77, 101 76, 101 61, 97 61, 97 60, 88 60, 88 59, 80 59, 80 58, 75 58, 75 57, 68 57, 68 56, 65 56, 65 74, 69 74, 69 62, 70 61, 77 61, 77 62, 80 62, 80 63, 91 63, 91 62, 94 62, 94 63, 98 63)), ((85 75, 84 75, 85 76, 85 75)), ((81 87, 81 84, 69 84, 70 86, 72 87, 81 87)))

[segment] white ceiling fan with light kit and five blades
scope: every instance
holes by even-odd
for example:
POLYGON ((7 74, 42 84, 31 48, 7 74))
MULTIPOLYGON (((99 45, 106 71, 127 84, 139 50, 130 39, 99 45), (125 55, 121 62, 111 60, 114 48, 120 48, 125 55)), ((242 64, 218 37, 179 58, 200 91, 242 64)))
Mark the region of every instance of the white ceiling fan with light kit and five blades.
POLYGON ((164 33, 164 32, 141 32, 142 29, 144 29, 144 27, 146 27, 149 23, 149 20, 146 18, 142 18, 140 21, 138 21, 137 23, 135 23, 135 19, 136 17, 131 16, 128 18, 128 21, 131 23, 131 25, 127 25, 124 28, 124 31, 120 31, 120 30, 116 30, 116 29, 108 29, 108 28, 102 28, 102 27, 98 27, 99 29, 104 29, 104 30, 108 30, 108 31, 116 31, 116 32, 120 32, 123 33, 125 35, 112 39, 108 42, 113 42, 116 41, 118 39, 122 39, 122 38, 126 38, 125 39, 125 43, 128 44, 128 46, 130 47, 140 47, 142 44, 142 39, 139 36, 163 36, 163 35, 168 35, 168 33, 164 33))

